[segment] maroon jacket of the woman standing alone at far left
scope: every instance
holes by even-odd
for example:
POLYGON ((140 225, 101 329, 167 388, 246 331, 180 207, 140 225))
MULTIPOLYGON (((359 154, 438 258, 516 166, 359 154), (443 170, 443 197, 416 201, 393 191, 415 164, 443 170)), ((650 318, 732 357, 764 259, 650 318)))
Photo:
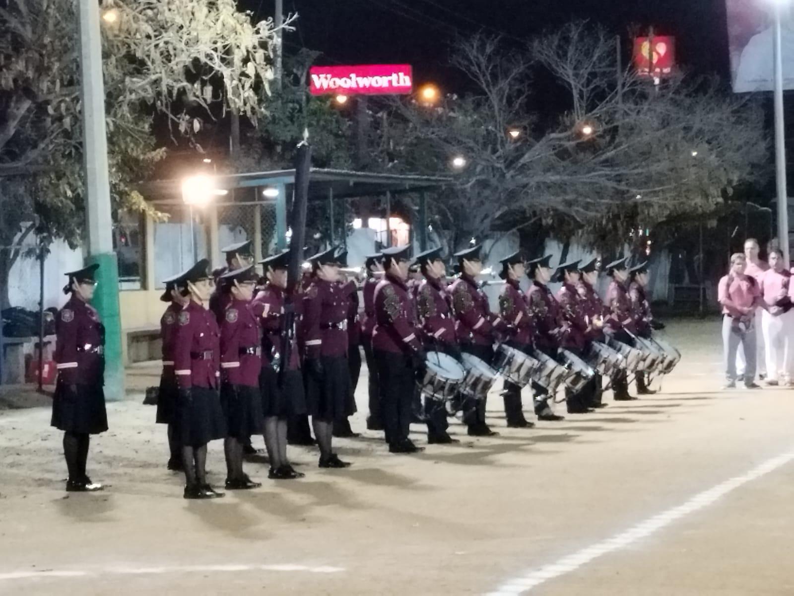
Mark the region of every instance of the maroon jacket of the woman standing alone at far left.
POLYGON ((56 320, 55 361, 67 385, 95 385, 104 371, 105 328, 96 309, 72 295, 56 320))

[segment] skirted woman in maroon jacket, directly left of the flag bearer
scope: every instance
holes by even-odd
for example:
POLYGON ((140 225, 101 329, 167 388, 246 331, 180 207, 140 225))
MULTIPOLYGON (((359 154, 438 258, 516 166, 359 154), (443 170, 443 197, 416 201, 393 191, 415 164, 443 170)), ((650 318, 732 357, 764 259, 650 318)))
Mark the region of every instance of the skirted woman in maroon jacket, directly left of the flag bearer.
POLYGON ((226 294, 220 323, 221 406, 226 418, 226 490, 248 490, 262 486, 243 471, 243 445, 251 435, 260 435, 262 398, 259 377, 262 368, 260 326, 252 312, 256 287, 253 265, 224 273, 221 292, 226 294))

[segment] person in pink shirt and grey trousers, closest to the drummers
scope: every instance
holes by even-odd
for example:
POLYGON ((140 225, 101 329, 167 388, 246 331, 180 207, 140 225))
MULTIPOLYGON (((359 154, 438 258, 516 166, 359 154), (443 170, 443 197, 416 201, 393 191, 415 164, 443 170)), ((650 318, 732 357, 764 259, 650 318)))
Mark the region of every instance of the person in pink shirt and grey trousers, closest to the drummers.
POLYGON ((756 329, 755 311, 761 292, 754 277, 745 275, 746 258, 742 253, 730 257, 730 272, 719 281, 719 304, 723 307, 723 349, 725 354, 726 389, 736 386, 736 351, 744 348, 746 367, 744 385, 755 384, 756 329))

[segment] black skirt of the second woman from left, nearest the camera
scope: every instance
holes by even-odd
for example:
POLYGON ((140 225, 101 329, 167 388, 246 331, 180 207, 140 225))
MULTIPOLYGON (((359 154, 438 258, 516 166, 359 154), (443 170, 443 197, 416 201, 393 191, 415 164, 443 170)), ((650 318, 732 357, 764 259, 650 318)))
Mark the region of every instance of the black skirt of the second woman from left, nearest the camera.
POLYGON ((176 436, 186 447, 201 447, 226 436, 226 420, 217 389, 193 387, 176 398, 176 436))

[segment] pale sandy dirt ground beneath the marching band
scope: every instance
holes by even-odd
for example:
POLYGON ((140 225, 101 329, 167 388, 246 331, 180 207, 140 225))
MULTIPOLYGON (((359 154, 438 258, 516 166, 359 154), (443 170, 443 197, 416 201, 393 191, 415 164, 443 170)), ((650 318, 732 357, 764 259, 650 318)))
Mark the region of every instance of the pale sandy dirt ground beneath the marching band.
MULTIPOLYGON (((363 436, 337 440, 353 467, 319 470, 291 447, 306 478, 268 481, 248 463, 264 486, 217 501, 183 500, 165 469, 165 429, 142 405, 152 366, 129 370, 127 401, 91 443, 102 493, 64 492, 48 398, 6 396, 0 594, 794 594, 794 389, 719 392, 715 319, 667 335, 684 361, 657 395, 607 393, 598 412, 519 430, 495 392, 499 436, 456 423, 461 443, 413 456, 364 431, 364 366, 363 436)), ((208 469, 222 486, 221 442, 208 469)))

